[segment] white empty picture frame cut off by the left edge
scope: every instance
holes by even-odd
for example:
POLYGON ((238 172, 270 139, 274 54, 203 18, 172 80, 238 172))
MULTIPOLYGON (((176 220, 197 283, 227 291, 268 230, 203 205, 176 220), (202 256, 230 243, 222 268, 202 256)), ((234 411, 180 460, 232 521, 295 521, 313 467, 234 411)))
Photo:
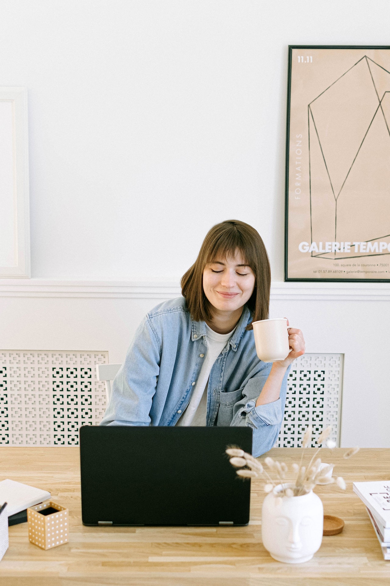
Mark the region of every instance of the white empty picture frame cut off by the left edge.
POLYGON ((0 87, 0 277, 30 277, 27 91, 0 87))

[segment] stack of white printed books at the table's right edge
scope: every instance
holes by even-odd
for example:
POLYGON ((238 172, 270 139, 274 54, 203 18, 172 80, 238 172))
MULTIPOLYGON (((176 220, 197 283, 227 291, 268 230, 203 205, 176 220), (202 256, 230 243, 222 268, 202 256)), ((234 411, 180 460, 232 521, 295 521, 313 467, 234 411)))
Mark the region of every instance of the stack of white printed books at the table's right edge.
POLYGON ((365 504, 383 557, 390 560, 390 481, 354 482, 353 490, 365 504))

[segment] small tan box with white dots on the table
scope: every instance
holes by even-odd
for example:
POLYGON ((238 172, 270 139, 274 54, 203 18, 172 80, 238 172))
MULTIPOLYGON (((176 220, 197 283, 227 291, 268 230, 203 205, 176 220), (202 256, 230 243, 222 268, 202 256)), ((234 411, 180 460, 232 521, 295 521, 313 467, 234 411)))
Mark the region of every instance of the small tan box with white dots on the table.
POLYGON ((29 541, 42 549, 68 542, 68 509, 49 500, 27 509, 29 541))

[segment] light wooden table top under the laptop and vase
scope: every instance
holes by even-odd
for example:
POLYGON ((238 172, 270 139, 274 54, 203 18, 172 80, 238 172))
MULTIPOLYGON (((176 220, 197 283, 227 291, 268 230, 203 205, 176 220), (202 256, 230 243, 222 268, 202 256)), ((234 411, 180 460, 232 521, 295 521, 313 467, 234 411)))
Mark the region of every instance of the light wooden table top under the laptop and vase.
MULTIPOLYGON (((390 449, 362 449, 344 460, 344 449, 323 450, 335 473, 347 481, 317 486, 325 513, 344 519, 343 533, 324 537, 305 564, 273 560, 261 543, 263 483, 252 482, 247 527, 84 527, 81 523, 77 448, 0 448, 0 480, 11 478, 46 490, 70 510, 69 543, 43 551, 30 544, 27 523, 9 528, 9 549, 0 561, 1 586, 317 586, 390 584, 390 561, 381 548, 352 481, 389 480, 390 449)), ((313 452, 307 450, 308 455, 313 452)), ((300 451, 274 448, 269 454, 296 461, 300 451)))

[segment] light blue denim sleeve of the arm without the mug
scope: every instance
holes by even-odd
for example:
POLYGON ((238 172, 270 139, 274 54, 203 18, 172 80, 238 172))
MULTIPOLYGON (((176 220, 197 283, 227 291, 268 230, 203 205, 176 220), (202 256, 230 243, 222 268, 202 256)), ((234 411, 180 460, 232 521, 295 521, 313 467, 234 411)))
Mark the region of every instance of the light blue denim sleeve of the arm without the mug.
POLYGON ((150 408, 160 372, 160 346, 146 316, 113 380, 110 400, 100 425, 150 425, 150 408))

